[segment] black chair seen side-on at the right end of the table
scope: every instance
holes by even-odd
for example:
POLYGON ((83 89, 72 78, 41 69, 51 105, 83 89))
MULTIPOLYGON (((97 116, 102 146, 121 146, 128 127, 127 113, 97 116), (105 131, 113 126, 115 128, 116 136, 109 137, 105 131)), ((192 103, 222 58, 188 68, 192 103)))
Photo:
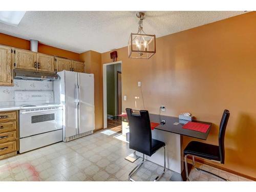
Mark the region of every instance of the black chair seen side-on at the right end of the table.
MULTIPOLYGON (((196 167, 195 157, 218 161, 218 162, 224 164, 224 161, 225 161, 224 138, 225 138, 225 131, 226 131, 228 118, 229 118, 229 111, 224 110, 222 118, 221 118, 221 123, 220 123, 219 145, 218 146, 207 144, 207 143, 202 143, 199 141, 191 141, 188 143, 188 145, 184 149, 185 169, 186 169, 186 177, 187 177, 188 181, 189 181, 189 178, 188 178, 188 170, 187 170, 187 156, 192 156, 193 166, 197 170, 202 170, 203 172, 209 173, 211 175, 215 175, 215 174, 207 172, 207 170, 203 170, 203 169, 196 167)), ((221 178, 223 180, 226 180, 218 175, 215 175, 215 176, 218 178, 221 178)))

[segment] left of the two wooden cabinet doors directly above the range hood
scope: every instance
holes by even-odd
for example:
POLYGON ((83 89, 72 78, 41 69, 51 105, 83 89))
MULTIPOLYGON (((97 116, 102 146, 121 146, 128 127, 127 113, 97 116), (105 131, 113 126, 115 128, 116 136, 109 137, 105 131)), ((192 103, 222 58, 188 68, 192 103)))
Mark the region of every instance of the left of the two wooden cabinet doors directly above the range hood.
POLYGON ((37 53, 22 49, 15 49, 17 69, 37 70, 37 53))

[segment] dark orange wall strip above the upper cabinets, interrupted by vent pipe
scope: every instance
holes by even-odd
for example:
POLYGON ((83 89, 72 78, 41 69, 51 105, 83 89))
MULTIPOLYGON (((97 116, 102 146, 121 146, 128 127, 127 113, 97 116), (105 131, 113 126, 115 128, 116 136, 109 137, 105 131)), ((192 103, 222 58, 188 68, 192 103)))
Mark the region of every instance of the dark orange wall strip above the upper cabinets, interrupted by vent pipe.
MULTIPOLYGON (((30 41, 29 40, 18 38, 18 37, 13 37, 13 36, 6 35, 3 33, 0 33, 0 44, 15 47, 15 48, 20 48, 20 49, 30 50, 30 41)), ((49 54, 49 55, 55 55, 55 56, 59 56, 59 57, 66 57, 66 58, 74 59, 74 60, 79 60, 78 53, 63 50, 63 49, 58 49, 58 48, 47 46, 47 45, 40 44, 40 43, 38 44, 38 52, 49 54)))

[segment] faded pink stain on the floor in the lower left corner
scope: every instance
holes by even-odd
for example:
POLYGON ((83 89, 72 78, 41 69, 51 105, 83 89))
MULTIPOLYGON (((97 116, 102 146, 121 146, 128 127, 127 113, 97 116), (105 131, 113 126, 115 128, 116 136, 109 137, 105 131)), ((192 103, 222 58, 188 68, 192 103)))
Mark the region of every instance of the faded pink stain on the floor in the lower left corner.
POLYGON ((29 172, 31 173, 31 180, 32 181, 39 181, 39 172, 37 172, 37 170, 35 169, 35 167, 29 163, 22 163, 22 164, 13 164, 13 165, 5 165, 3 167, 0 167, 0 173, 1 172, 6 172, 6 171, 11 171, 12 169, 16 168, 16 167, 25 167, 26 170, 29 170, 29 172))

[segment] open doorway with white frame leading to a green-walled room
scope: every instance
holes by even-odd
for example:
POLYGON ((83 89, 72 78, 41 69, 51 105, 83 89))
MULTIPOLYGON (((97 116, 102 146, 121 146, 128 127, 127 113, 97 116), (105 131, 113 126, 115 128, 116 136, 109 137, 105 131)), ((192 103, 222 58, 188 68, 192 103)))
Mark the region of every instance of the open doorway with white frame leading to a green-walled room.
POLYGON ((104 129, 122 132, 122 61, 103 65, 103 118, 104 129))

